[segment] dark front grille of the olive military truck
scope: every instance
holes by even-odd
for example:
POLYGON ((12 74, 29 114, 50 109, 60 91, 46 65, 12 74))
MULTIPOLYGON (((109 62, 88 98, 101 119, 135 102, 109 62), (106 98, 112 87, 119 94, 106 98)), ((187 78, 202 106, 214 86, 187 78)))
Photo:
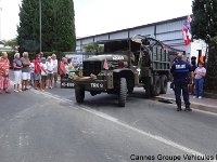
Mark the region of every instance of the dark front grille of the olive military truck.
POLYGON ((84 76, 98 75, 101 71, 101 62, 84 62, 84 76))

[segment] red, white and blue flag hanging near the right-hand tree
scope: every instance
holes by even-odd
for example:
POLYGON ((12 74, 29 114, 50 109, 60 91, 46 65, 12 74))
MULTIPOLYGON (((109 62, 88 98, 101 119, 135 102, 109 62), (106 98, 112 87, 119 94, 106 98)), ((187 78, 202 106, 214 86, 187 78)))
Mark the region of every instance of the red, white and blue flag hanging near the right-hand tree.
POLYGON ((191 16, 188 16, 183 22, 182 33, 184 45, 188 45, 191 42, 191 16))

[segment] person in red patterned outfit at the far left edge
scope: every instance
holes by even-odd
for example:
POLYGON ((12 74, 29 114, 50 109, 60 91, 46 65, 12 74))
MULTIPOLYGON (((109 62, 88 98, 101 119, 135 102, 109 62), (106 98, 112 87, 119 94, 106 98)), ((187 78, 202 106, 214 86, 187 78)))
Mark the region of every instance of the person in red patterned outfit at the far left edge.
POLYGON ((0 57, 0 94, 2 94, 3 91, 5 91, 5 93, 11 93, 9 91, 9 67, 10 62, 8 59, 8 54, 7 52, 2 52, 2 56, 0 57))

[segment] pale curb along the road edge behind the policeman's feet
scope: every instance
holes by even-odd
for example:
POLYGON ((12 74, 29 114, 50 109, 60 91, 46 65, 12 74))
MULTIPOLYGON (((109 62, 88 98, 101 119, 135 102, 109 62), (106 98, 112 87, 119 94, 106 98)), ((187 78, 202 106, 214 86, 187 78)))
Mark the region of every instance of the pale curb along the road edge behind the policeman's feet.
MULTIPOLYGON (((165 97, 165 96, 156 96, 155 98, 170 100, 170 102, 173 102, 173 104, 176 104, 175 98, 165 97)), ((184 105, 183 102, 182 102, 182 105, 184 105)), ((214 105, 199 104, 195 102, 191 102, 191 107, 193 109, 217 113, 217 106, 214 106, 214 105)))

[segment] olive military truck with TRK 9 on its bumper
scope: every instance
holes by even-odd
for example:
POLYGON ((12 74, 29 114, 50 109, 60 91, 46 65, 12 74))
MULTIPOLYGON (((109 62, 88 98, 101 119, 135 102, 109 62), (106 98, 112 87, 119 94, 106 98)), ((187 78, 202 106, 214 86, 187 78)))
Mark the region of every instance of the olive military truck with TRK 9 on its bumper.
POLYGON ((104 52, 85 59, 82 77, 73 78, 77 103, 84 103, 85 91, 92 96, 116 94, 120 107, 136 86, 143 87, 148 96, 167 92, 170 58, 159 41, 135 36, 98 43, 104 52))

